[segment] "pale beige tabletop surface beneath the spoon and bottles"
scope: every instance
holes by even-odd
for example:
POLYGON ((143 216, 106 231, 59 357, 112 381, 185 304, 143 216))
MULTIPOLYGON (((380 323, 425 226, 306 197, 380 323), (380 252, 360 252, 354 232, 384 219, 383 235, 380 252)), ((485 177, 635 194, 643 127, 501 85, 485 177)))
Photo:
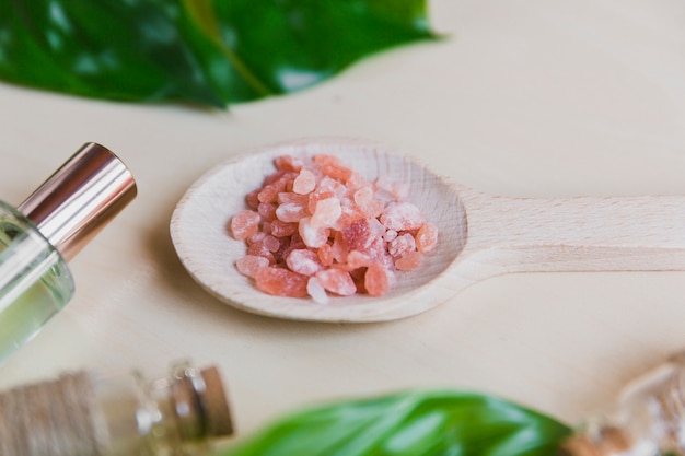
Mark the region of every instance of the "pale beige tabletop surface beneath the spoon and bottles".
POLYGON ((501 277, 363 326, 244 314, 186 274, 169 235, 185 189, 291 138, 381 140, 496 195, 685 195, 685 3, 430 3, 450 39, 225 113, 0 84, 0 198, 20 202, 84 141, 139 182, 72 261, 73 301, 1 369, 0 387, 77 367, 152 375, 189 356, 223 371, 243 433, 300 406, 408 387, 494 393, 573 422, 685 347, 681 272, 501 277))

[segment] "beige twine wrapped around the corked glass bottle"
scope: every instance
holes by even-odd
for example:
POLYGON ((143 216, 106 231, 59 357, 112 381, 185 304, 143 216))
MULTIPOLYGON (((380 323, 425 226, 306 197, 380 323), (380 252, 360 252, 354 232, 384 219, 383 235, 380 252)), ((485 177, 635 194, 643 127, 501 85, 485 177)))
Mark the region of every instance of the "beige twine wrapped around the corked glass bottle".
POLYGON ((102 456, 85 372, 0 395, 0 456, 102 456))

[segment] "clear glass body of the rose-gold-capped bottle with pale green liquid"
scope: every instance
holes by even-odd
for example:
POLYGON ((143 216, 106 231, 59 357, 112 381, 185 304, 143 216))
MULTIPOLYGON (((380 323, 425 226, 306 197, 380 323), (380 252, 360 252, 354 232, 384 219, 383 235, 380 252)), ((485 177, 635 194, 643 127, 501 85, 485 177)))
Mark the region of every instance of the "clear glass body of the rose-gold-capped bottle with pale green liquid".
POLYGON ((0 201, 0 365, 73 294, 59 253, 33 223, 0 201))

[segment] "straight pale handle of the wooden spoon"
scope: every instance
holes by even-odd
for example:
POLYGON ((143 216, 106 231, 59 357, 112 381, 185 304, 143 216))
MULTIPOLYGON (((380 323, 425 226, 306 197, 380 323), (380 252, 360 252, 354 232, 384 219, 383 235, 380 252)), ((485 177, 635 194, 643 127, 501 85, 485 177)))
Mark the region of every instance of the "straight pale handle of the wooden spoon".
POLYGON ((466 248, 499 272, 685 270, 685 197, 464 200, 466 248))

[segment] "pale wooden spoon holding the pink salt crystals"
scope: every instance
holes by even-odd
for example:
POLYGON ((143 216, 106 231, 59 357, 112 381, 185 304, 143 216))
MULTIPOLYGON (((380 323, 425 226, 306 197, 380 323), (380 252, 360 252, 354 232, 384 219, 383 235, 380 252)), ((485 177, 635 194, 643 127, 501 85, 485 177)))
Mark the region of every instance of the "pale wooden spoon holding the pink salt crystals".
POLYGON ((171 235, 181 261, 209 293, 237 308, 279 318, 382 321, 428 311, 472 283, 508 272, 685 270, 685 198, 526 199, 487 196, 449 184, 382 144, 313 139, 253 150, 200 177, 178 202, 171 235), (322 305, 257 290, 235 269, 245 245, 229 235, 245 195, 282 154, 340 156, 367 180, 409 186, 408 199, 440 230, 438 247, 382 297, 353 295, 322 305))

